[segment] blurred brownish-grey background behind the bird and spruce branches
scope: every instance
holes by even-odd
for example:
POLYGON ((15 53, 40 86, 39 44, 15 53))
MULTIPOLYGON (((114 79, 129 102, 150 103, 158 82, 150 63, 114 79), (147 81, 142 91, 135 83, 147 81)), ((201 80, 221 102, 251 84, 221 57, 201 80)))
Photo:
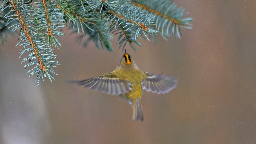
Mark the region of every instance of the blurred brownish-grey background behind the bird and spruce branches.
POLYGON ((18 35, 0 49, 0 143, 256 143, 256 1, 175 1, 193 17, 181 39, 161 36, 127 52, 142 71, 178 77, 167 94, 144 91, 143 122, 117 96, 65 83, 112 72, 123 51, 78 45, 71 30, 55 49, 55 82, 26 75, 18 35))

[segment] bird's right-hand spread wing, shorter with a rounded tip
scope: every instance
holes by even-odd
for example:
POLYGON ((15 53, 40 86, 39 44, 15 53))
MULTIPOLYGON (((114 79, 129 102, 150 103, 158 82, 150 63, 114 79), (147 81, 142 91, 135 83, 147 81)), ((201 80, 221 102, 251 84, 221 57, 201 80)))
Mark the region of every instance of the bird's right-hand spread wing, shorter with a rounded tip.
POLYGON ((147 78, 142 80, 141 87, 142 89, 152 91, 153 93, 168 93, 178 84, 178 80, 170 76, 155 74, 150 75, 148 73, 146 73, 146 75, 147 78))

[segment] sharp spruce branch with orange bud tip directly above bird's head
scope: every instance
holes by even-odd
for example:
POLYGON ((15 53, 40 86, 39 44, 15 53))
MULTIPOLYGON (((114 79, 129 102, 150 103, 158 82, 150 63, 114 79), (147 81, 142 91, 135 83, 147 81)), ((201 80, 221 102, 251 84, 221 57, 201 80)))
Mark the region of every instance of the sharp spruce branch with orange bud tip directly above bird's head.
MULTIPOLYGON (((153 16, 127 2, 119 3, 119 7, 108 11, 106 17, 106 21, 111 23, 109 26, 110 32, 115 33, 115 35, 119 34, 117 44, 120 45, 119 49, 123 45, 122 50, 126 43, 129 42, 129 45, 136 51, 134 43, 141 45, 136 41, 138 36, 147 38, 147 34, 157 33, 157 31, 148 28, 150 25, 154 25, 153 16)), ((149 40, 149 38, 147 39, 149 40)))

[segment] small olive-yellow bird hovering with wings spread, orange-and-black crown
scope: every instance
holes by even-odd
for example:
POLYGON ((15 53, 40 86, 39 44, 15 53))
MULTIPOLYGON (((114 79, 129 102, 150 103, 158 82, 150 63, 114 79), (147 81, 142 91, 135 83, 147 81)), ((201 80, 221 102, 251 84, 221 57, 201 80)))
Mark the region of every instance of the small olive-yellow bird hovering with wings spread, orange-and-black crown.
POLYGON ((70 80, 67 82, 77 83, 102 93, 117 95, 131 104, 133 121, 140 120, 142 122, 144 120, 141 106, 142 91, 145 89, 153 93, 165 94, 176 88, 178 80, 170 76, 149 74, 139 70, 125 49, 125 54, 112 73, 81 81, 70 80))

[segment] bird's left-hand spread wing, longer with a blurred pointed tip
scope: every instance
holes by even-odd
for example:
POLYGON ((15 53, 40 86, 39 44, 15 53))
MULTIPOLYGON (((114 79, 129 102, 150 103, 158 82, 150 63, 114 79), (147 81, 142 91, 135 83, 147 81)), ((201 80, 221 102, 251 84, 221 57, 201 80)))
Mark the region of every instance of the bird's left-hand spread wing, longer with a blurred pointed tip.
POLYGON ((78 85, 84 85, 83 87, 90 87, 90 89, 96 89, 96 91, 101 91, 102 93, 111 95, 125 94, 132 90, 131 83, 129 81, 116 78, 113 73, 107 73, 82 81, 68 82, 78 83, 78 85))

